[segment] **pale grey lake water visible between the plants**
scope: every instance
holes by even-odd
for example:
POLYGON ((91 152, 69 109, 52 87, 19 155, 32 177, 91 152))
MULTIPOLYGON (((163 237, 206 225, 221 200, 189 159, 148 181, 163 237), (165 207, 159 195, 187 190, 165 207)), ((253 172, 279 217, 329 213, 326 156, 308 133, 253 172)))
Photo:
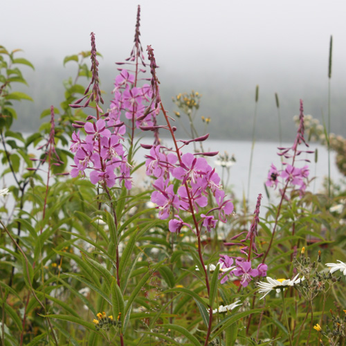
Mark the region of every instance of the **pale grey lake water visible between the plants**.
MULTIPOLYGON (((143 140, 144 143, 151 144, 152 141, 148 138, 143 140)), ((166 143, 167 146, 172 146, 170 140, 163 139, 163 143, 166 143)), ((206 152, 218 151, 220 154, 223 154, 225 151, 230 155, 234 155, 236 162, 230 167, 230 178, 229 186, 232 188, 235 196, 238 199, 242 199, 243 194, 247 197, 248 194, 248 170, 250 164, 251 156, 251 145, 250 141, 235 141, 235 140, 206 140, 203 143, 204 150, 206 152)), ((291 147, 292 143, 284 143, 282 147, 291 147)), ((261 193, 264 196, 262 201, 263 204, 266 204, 266 193, 264 190, 264 183, 267 178, 268 170, 273 163, 277 168, 281 167, 280 156, 277 156, 277 143, 268 143, 268 142, 257 142, 255 143, 254 152, 253 152, 253 167, 251 173, 251 187, 249 192, 249 200, 251 201, 251 206, 255 206, 255 201, 257 195, 261 193)), ((298 167, 303 165, 309 165, 310 177, 316 176, 316 181, 311 183, 308 190, 312 192, 318 192, 322 188, 323 177, 328 175, 328 158, 327 158, 327 149, 322 145, 310 145, 309 150, 318 149, 318 163, 314 163, 314 154, 301 154, 300 159, 309 158, 311 163, 298 163, 298 167)), ((303 146, 300 149, 304 149, 303 146)), ((187 147, 184 147, 183 152, 192 152, 193 147, 192 143, 187 147)), ((145 154, 148 154, 149 150, 140 148, 136 154, 137 161, 142 161, 145 154)), ((208 162, 213 167, 215 166, 217 172, 221 176, 221 167, 215 165, 217 156, 208 157, 208 162)), ((3 165, 0 163, 0 171, 3 170, 3 165)), ((338 169, 335 164, 335 153, 331 152, 331 179, 338 181, 338 179, 343 178, 343 175, 338 172, 338 169)), ((6 175, 6 186, 14 183, 12 175, 6 175)), ((0 181, 0 189, 3 188, 4 181, 0 181)), ((271 196, 275 196, 275 191, 269 189, 271 196)))

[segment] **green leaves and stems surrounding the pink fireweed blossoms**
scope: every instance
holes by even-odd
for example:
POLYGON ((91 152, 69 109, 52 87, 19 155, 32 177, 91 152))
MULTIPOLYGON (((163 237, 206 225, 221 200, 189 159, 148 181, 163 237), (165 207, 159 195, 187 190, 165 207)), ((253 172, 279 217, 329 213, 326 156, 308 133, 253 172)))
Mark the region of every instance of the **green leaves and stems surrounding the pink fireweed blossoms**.
MULTIPOLYGON (((211 264, 220 255, 239 257, 239 248, 226 248, 218 233, 228 240, 248 232, 253 213, 246 202, 213 233, 197 235, 183 227, 175 234, 149 204, 152 185, 128 191, 71 179, 72 124, 89 114, 69 105, 84 96, 79 83, 92 76, 85 61, 90 53, 64 59, 64 65, 75 64, 76 76, 64 81, 60 109, 42 111, 41 118, 51 119, 30 136, 12 131, 21 118, 15 102, 33 101, 14 90, 15 83, 26 84, 21 67, 33 69, 17 53, 0 46, 1 178, 12 179, 12 205, 0 196, 1 345, 306 345, 320 338, 345 344, 345 278, 324 265, 346 255, 345 189, 335 188, 331 198, 291 191, 266 212, 262 207, 255 245, 266 254, 267 275, 304 276, 300 284, 285 287, 284 306, 277 287, 260 299, 257 284, 264 277, 242 286, 231 274, 221 284, 229 273, 220 266, 212 270, 211 264), (236 300, 237 309, 219 311, 236 300), (313 329, 317 323, 320 331, 313 329)), ((192 92, 174 102, 193 122, 199 99, 192 92)), ((198 137, 194 126, 188 132, 198 137)), ((140 172, 145 163, 134 160, 140 140, 133 139, 132 172, 140 172)), ((175 193, 178 187, 176 181, 175 193)), ((192 219, 185 212, 183 221, 192 219)), ((243 257, 253 266, 262 258, 243 257)))

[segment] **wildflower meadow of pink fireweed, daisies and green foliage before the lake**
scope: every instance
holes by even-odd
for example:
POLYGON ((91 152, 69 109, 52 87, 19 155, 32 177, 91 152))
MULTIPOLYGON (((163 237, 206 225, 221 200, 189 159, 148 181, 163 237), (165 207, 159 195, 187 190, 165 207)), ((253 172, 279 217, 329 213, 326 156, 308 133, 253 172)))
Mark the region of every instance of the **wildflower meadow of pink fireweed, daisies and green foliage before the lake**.
POLYGON ((206 149, 201 94, 172 95, 167 112, 140 7, 113 86, 90 37, 29 135, 11 128, 34 66, 0 46, 0 345, 346 345, 346 187, 329 174, 311 192, 310 140, 346 174, 330 114, 320 124, 297 100, 296 136, 260 172, 267 196, 249 201, 229 187, 236 158, 206 149))

